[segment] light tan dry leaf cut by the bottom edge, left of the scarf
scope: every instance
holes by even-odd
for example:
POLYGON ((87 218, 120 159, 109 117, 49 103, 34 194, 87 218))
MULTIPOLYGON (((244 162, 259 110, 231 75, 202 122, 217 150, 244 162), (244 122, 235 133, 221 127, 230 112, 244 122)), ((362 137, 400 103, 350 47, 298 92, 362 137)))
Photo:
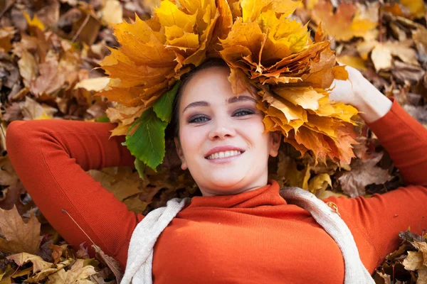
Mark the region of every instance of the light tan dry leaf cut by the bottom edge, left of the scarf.
POLYGON ((93 283, 88 280, 90 275, 95 275, 96 271, 93 266, 84 266, 84 261, 78 259, 75 261, 73 266, 69 271, 61 269, 60 271, 53 273, 48 276, 48 283, 52 284, 73 284, 73 283, 82 283, 89 284, 93 283))

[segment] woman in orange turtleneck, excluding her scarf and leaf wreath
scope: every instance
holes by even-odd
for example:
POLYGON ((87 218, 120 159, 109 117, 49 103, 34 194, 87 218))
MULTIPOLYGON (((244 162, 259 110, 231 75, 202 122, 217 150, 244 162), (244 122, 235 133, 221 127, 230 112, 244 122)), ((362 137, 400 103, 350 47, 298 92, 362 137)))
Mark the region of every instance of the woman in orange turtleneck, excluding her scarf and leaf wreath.
MULTIPOLYGON (((236 98, 223 65, 197 68, 181 84, 176 148, 204 196, 193 197, 154 246, 155 283, 343 283, 342 252, 310 212, 288 204, 267 180, 278 133, 264 133, 251 94, 236 98)), ((406 187, 371 198, 330 197, 369 273, 399 246, 399 231, 421 234, 426 215, 427 131, 356 70, 331 99, 351 103, 401 170, 406 187), (352 89, 352 86, 354 89, 352 89)), ((127 211, 85 170, 133 166, 109 139, 115 124, 14 121, 6 143, 23 185, 69 244, 90 241, 125 268, 132 232, 144 219, 127 211), (31 146, 30 146, 31 145, 31 146)))

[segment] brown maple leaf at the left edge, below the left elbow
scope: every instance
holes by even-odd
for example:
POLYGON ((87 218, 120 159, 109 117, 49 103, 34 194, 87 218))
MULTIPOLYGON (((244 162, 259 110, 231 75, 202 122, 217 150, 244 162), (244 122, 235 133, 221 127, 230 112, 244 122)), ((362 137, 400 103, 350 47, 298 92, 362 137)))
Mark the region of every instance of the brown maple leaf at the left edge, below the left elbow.
POLYGON ((11 210, 0 209, 0 229, 5 237, 0 239, 1 251, 36 253, 43 238, 40 236, 40 226, 32 211, 30 219, 24 223, 16 207, 11 210))

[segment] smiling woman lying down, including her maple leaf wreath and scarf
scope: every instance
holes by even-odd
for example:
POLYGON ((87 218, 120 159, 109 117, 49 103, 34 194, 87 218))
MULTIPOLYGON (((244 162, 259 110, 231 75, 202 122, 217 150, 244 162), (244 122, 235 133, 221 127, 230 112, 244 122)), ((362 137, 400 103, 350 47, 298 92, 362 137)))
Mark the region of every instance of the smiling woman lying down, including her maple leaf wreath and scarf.
POLYGON ((111 79, 101 94, 130 107, 127 124, 8 126, 11 162, 48 222, 75 249, 93 241, 120 261, 122 283, 373 283, 399 231, 422 234, 427 129, 360 72, 337 65, 321 27, 310 40, 290 17, 297 6, 163 0, 147 21, 115 26, 120 48, 101 62, 111 79), (162 163, 178 88, 176 151, 203 196, 135 214, 85 171, 133 167, 131 153, 136 165, 162 163), (316 162, 349 164, 357 111, 406 187, 318 200, 268 180, 282 138, 316 162), (111 136, 127 127, 126 138, 111 136))

